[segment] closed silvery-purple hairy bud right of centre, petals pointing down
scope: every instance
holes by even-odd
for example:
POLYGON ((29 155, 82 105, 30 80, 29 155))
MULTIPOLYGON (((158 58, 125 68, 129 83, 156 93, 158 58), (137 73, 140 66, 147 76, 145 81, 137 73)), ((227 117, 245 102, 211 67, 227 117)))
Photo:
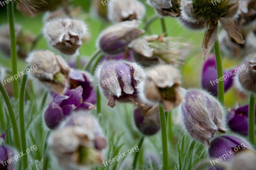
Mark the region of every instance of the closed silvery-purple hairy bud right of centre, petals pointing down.
POLYGON ((225 133, 224 109, 212 95, 202 90, 189 90, 180 105, 180 116, 188 133, 210 146, 216 132, 225 133))

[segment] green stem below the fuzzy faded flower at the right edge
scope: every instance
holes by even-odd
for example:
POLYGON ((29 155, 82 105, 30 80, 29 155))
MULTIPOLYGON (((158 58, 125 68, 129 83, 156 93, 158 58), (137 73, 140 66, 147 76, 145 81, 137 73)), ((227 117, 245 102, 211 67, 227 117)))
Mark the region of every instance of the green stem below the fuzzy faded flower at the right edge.
POLYGON ((252 145, 255 144, 255 97, 250 96, 249 104, 249 140, 252 145))

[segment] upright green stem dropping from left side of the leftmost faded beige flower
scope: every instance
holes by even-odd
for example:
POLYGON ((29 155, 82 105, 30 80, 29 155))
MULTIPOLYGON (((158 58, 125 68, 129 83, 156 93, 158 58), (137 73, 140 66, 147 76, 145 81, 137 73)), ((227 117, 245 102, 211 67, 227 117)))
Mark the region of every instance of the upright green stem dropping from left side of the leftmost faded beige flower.
MULTIPOLYGON (((26 140, 26 129, 25 129, 25 116, 24 116, 24 100, 25 100, 25 88, 28 75, 24 75, 21 84, 20 84, 20 96, 19 96, 19 120, 20 120, 20 143, 21 151, 25 152, 27 149, 27 140, 26 140)), ((22 167, 26 169, 28 167, 28 156, 27 154, 23 155, 21 158, 22 167)))

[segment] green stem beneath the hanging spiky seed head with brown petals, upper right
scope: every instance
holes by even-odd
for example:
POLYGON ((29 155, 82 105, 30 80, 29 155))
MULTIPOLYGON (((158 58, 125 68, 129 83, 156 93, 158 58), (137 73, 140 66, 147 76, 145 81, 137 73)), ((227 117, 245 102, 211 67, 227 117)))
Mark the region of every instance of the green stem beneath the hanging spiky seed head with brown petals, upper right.
MULTIPOLYGON (((214 44, 214 50, 215 50, 218 78, 221 78, 221 77, 223 77, 223 69, 222 69, 220 44, 219 44, 218 37, 214 44)), ((218 98, 219 98, 220 103, 222 103, 222 105, 224 105, 224 81, 220 81, 218 83, 218 98)))

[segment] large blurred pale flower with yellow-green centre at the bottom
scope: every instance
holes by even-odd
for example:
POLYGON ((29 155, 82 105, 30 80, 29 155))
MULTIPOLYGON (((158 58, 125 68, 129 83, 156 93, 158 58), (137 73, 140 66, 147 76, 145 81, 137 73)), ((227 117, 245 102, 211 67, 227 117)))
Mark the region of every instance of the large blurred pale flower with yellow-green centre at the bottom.
POLYGON ((63 169, 91 169, 102 164, 107 143, 99 122, 84 111, 75 112, 49 136, 49 147, 63 169))

